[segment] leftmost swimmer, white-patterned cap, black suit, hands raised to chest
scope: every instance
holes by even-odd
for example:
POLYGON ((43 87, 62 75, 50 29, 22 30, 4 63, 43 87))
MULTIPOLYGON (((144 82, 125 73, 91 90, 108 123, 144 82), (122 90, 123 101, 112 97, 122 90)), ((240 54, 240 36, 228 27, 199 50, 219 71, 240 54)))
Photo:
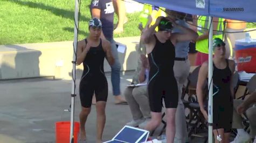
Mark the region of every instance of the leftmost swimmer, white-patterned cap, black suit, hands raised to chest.
POLYGON ((87 39, 78 41, 77 65, 84 65, 84 71, 79 85, 82 110, 80 112, 80 142, 85 142, 85 122, 91 111, 92 96, 95 92, 97 111, 96 142, 101 142, 106 122, 105 108, 108 97, 108 82, 105 77, 104 58, 110 65, 114 63, 110 42, 100 39, 101 21, 93 18, 89 21, 89 35, 87 39))

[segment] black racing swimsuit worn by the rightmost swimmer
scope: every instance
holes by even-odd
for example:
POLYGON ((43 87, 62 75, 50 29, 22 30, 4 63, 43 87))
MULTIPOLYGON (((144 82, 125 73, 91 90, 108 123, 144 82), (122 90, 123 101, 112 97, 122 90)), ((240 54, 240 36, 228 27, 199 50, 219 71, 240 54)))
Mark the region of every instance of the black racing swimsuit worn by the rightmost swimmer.
POLYGON ((225 69, 218 69, 213 64, 213 85, 217 86, 218 93, 213 95, 213 129, 224 129, 231 132, 233 117, 233 97, 230 84, 232 72, 229 60, 226 59, 225 69))

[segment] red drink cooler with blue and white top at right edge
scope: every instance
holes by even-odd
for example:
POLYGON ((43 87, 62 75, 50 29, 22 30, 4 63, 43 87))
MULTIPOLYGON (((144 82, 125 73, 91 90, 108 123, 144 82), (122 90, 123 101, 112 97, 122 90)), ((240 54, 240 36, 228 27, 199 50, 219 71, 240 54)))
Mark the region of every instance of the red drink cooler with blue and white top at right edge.
POLYGON ((256 73, 256 40, 236 40, 235 51, 238 71, 256 73))

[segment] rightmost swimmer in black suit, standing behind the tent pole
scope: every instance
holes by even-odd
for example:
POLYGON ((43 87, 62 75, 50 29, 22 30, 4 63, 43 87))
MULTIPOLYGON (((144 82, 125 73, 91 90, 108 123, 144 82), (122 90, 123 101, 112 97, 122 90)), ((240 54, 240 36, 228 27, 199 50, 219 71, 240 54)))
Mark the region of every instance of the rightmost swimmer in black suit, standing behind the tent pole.
MULTIPOLYGON (((207 108, 204 102, 203 86, 207 78, 213 84, 213 133, 215 142, 218 142, 217 136, 222 138, 223 142, 230 142, 230 132, 232 129, 233 117, 233 93, 232 77, 234 73, 234 61, 225 58, 225 43, 216 38, 213 40, 213 76, 207 77, 208 61, 200 67, 197 81, 197 97, 200 110, 208 121, 207 108)), ((207 103, 207 101, 206 101, 207 103)))

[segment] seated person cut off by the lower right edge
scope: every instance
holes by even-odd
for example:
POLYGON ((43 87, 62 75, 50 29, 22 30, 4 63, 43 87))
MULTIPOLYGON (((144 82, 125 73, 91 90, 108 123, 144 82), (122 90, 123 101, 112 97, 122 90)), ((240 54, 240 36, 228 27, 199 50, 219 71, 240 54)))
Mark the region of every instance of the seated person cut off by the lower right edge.
POLYGON ((234 100, 234 110, 233 110, 233 129, 237 129, 237 136, 231 143, 243 143, 250 142, 250 136, 243 129, 241 114, 245 113, 250 122, 250 134, 251 138, 254 138, 253 143, 256 143, 256 89, 251 94, 248 99, 244 100, 234 100))

